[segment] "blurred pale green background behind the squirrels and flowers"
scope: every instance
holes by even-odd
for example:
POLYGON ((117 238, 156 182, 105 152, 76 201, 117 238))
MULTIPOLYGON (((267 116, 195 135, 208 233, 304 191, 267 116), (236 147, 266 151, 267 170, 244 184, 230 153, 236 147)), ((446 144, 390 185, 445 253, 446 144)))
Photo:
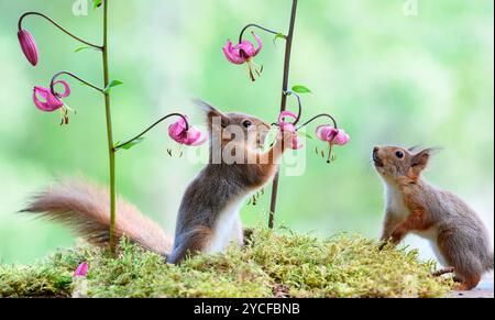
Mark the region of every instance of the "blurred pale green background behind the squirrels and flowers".
MULTIPOLYGON (((76 1, 0 0, 0 261, 30 263, 56 247, 70 246, 63 228, 15 213, 26 198, 58 176, 107 183, 106 126, 100 96, 72 81, 66 100, 77 109, 68 126, 58 114, 37 111, 32 87, 47 86, 58 70, 101 84, 98 53, 74 53, 79 45, 46 21, 30 18, 40 47, 31 67, 16 38, 18 18, 41 11, 94 42, 101 41, 101 10, 75 15, 76 1)), ((378 236, 383 187, 370 154, 376 144, 442 146, 427 177, 471 203, 490 225, 494 218, 494 2, 492 0, 413 1, 301 0, 294 43, 292 84, 305 96, 305 119, 331 112, 352 136, 327 165, 308 151, 299 177, 283 177, 277 222, 300 232, 330 235, 360 232, 378 236)), ((201 97, 226 111, 267 121, 278 113, 284 45, 261 34, 256 62, 264 74, 250 82, 244 66, 229 64, 227 38, 257 22, 286 31, 289 0, 119 0, 110 3, 116 140, 140 132, 163 114, 180 111, 204 121, 190 102, 201 97)), ((294 108, 290 101, 290 108, 294 108)), ((170 158, 167 125, 118 157, 119 192, 160 222, 175 228, 182 192, 201 168, 170 158)), ((312 130, 312 129, 311 129, 312 130)), ((202 147, 205 151, 205 147, 202 147)), ((257 207, 245 207, 246 225, 265 223, 270 188, 257 207)), ((407 242, 431 252, 415 236, 407 242)))

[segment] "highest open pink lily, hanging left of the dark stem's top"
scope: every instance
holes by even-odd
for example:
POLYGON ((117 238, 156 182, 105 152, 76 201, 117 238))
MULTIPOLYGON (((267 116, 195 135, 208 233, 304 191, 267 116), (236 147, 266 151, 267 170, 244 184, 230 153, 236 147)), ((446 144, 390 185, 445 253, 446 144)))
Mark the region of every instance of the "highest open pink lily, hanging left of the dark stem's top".
POLYGON ((229 40, 227 41, 226 46, 223 47, 223 54, 227 59, 234 65, 248 64, 250 69, 250 78, 252 81, 255 81, 254 73, 260 77, 263 73, 263 66, 258 66, 254 63, 254 57, 261 52, 263 48, 263 43, 260 36, 257 36, 254 32, 251 32, 256 40, 257 48, 250 41, 243 40, 240 44, 233 45, 229 40))

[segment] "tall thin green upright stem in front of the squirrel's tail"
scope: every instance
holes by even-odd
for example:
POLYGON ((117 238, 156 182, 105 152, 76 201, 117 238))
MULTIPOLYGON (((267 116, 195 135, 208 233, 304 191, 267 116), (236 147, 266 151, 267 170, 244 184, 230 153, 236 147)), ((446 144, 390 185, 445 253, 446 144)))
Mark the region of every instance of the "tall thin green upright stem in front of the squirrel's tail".
MULTIPOLYGON (((105 88, 109 84, 109 67, 108 67, 108 2, 103 1, 103 82, 105 88)), ((107 115, 107 136, 108 136, 108 154, 110 161, 110 250, 116 252, 116 152, 113 150, 113 131, 112 131, 112 113, 110 109, 110 92, 105 93, 105 110, 107 115)))

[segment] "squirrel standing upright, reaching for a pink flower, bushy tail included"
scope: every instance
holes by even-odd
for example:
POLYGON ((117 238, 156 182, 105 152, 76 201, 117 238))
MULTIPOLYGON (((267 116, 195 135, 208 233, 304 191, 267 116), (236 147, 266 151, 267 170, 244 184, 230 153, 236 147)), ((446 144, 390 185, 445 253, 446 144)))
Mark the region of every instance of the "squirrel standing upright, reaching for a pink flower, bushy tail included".
MULTIPOLYGON (((292 133, 279 132, 272 147, 263 153, 261 147, 270 124, 250 114, 222 113, 207 102, 196 102, 202 107, 208 119, 210 161, 184 194, 174 244, 157 224, 136 208, 122 199, 117 205, 117 235, 121 238, 125 234, 143 247, 166 256, 172 264, 199 252, 222 252, 232 241, 243 244, 239 209, 252 192, 273 179, 285 145, 292 139, 292 133), (244 161, 226 161, 223 154, 227 152, 230 156, 242 152, 244 161), (213 159, 218 154, 220 158, 213 159), (254 161, 246 162, 248 158, 254 161)), ((90 243, 107 245, 110 221, 108 199, 108 191, 103 188, 67 180, 33 197, 23 211, 41 213, 68 224, 90 243)))

